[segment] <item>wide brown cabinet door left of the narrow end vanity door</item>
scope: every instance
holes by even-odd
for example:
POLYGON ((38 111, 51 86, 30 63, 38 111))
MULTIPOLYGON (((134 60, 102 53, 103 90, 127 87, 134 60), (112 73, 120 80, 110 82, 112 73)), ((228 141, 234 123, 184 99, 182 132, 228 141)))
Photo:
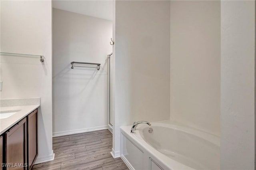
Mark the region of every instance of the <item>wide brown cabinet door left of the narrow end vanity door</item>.
POLYGON ((6 132, 7 170, 26 170, 26 118, 6 132))

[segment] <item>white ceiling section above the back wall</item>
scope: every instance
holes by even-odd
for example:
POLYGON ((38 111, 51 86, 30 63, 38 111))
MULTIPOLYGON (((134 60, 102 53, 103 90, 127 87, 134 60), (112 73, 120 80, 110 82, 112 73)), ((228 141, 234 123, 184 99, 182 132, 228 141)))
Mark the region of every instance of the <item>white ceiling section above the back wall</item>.
POLYGON ((53 0, 53 8, 76 12, 105 20, 113 19, 112 0, 53 0))

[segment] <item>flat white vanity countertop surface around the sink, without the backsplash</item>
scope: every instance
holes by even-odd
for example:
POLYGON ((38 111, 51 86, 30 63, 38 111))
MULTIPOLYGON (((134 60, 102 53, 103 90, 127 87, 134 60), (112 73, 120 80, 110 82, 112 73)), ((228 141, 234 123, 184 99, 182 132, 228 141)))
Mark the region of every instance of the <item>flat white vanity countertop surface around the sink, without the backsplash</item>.
POLYGON ((4 133, 6 130, 11 128, 13 125, 18 123, 20 120, 22 120, 24 117, 29 115, 32 111, 37 109, 39 106, 40 106, 40 104, 26 105, 26 106, 0 107, 0 111, 21 110, 8 118, 0 119, 0 131, 1 131, 0 134, 4 133))

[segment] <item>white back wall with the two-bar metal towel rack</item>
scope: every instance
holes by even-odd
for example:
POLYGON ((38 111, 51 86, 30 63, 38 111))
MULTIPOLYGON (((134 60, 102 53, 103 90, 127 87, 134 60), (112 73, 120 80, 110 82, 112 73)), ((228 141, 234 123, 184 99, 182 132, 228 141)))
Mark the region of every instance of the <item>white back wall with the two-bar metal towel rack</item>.
POLYGON ((53 135, 107 128, 111 37, 111 21, 53 8, 53 135))

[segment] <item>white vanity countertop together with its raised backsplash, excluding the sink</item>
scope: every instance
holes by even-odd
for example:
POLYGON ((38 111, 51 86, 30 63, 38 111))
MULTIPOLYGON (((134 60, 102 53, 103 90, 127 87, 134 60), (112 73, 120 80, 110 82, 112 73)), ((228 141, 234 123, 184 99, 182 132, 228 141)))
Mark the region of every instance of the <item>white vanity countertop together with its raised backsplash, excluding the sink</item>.
POLYGON ((33 99, 1 99, 0 111, 17 111, 10 117, 0 119, 1 134, 18 123, 32 111, 40 107, 40 98, 33 99), (30 104, 31 103, 31 104, 30 104))

